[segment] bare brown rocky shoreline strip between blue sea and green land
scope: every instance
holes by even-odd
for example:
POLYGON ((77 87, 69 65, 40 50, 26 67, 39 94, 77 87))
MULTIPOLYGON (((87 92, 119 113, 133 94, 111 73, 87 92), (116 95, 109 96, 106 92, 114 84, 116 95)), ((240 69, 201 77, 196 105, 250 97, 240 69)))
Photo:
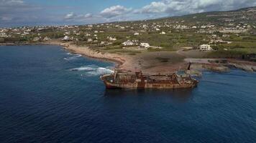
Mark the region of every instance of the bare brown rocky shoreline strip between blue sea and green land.
MULTIPOLYGON (((86 56, 91 59, 97 59, 100 61, 109 61, 114 64, 114 68, 116 69, 122 69, 126 71, 138 71, 141 70, 142 72, 148 73, 148 74, 168 74, 166 72, 167 66, 166 65, 160 65, 155 66, 152 69, 137 69, 136 66, 136 58, 138 57, 132 57, 127 55, 121 55, 121 54, 110 54, 110 53, 101 53, 99 51, 95 51, 93 49, 90 49, 88 46, 76 46, 75 44, 72 44, 70 42, 63 43, 62 41, 58 40, 52 40, 52 41, 45 41, 40 43, 25 43, 25 44, 13 44, 13 43, 6 43, 6 44, 0 44, 0 46, 25 46, 25 45, 55 45, 55 46, 61 46, 63 49, 70 51, 70 53, 73 54, 81 54, 82 56, 86 56)), ((141 60, 141 59, 140 59, 141 60)), ((229 71, 229 67, 233 66, 237 69, 242 69, 244 71, 256 71, 256 63, 252 61, 242 61, 239 59, 190 59, 185 58, 183 59, 183 62, 178 62, 173 65, 171 65, 169 68, 172 70, 168 70, 170 72, 178 71, 176 67, 178 66, 185 66, 189 62, 192 63, 191 65, 191 71, 190 73, 200 73, 201 69, 209 69, 211 71, 229 71), (217 62, 216 62, 217 61, 217 62), (226 61, 225 63, 222 63, 222 61, 226 61)), ((154 66, 154 65, 153 65, 154 66)), ((186 69, 186 67, 185 67, 186 69)))

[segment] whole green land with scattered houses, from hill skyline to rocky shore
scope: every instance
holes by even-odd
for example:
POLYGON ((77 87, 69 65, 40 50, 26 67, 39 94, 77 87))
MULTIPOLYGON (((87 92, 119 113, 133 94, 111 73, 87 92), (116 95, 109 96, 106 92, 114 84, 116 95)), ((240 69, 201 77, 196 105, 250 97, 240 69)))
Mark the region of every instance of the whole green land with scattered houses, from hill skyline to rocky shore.
POLYGON ((245 15, 239 11, 232 14, 206 14, 204 19, 194 14, 105 24, 0 28, 0 44, 53 42, 65 47, 86 47, 95 55, 101 53, 97 58, 108 59, 105 56, 112 54, 119 56, 116 61, 137 63, 133 69, 157 69, 153 67, 155 61, 180 69, 181 64, 175 66, 176 63, 195 58, 255 60, 256 9, 247 9, 245 15))

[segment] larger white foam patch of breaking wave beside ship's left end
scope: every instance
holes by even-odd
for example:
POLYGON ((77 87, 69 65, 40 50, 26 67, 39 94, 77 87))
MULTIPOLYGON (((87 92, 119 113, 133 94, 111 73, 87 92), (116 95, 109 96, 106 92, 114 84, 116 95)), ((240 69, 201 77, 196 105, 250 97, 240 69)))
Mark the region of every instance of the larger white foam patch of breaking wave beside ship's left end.
POLYGON ((99 76, 101 74, 111 74, 114 72, 113 70, 111 70, 110 66, 99 67, 94 64, 73 68, 73 69, 70 69, 70 71, 86 71, 85 74, 83 74, 85 76, 99 76))

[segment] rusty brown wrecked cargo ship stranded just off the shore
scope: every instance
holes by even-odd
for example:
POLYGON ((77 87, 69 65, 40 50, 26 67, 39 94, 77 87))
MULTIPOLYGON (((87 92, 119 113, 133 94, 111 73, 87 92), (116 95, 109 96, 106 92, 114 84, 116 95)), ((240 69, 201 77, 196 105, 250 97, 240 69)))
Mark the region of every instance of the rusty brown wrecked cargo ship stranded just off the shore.
POLYGON ((115 70, 101 76, 106 89, 182 89, 196 87, 198 81, 190 74, 142 74, 142 71, 115 70))

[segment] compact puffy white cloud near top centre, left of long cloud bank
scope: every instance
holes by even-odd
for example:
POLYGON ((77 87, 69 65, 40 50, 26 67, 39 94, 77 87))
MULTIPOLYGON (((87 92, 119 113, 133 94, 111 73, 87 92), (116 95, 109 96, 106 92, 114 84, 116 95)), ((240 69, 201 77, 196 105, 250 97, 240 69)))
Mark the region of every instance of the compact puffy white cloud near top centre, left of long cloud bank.
POLYGON ((124 6, 111 6, 109 8, 104 9, 103 11, 101 11, 100 15, 105 17, 105 18, 112 18, 115 16, 121 16, 124 14, 129 13, 130 11, 132 11, 132 9, 128 9, 124 6))

